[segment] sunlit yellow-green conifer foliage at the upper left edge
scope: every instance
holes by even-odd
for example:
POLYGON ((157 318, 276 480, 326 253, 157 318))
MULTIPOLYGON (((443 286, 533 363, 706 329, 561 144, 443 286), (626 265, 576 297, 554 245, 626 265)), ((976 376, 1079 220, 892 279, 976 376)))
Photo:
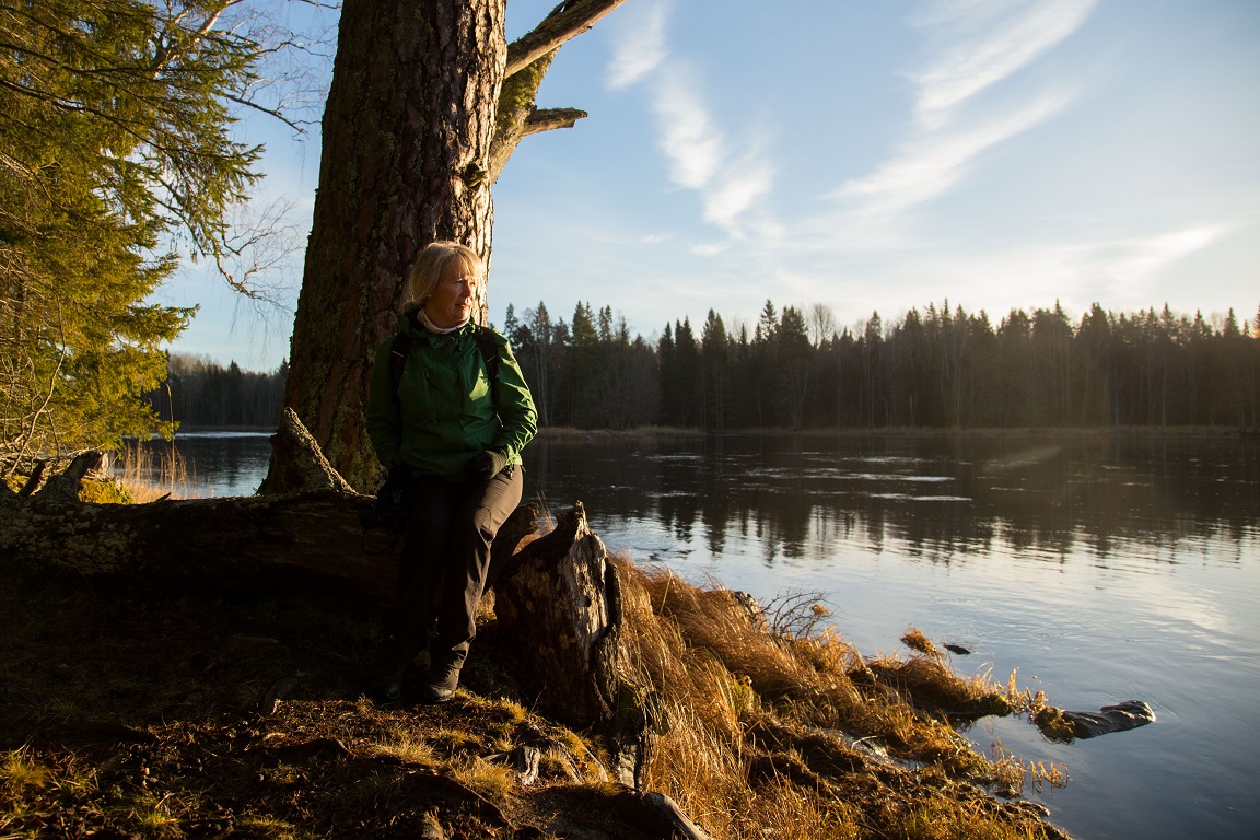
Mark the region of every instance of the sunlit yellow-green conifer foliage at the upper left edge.
POLYGON ((257 178, 228 102, 258 44, 224 0, 0 3, 0 468, 163 426, 140 399, 192 310, 175 249, 229 256, 257 178))

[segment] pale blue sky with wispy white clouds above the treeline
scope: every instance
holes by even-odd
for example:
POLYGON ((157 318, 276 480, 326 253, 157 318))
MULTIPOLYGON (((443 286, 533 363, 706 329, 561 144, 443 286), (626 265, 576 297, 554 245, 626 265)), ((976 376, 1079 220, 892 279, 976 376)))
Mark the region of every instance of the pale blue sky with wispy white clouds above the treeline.
MULTIPOLYGON (((509 0, 509 40, 556 0, 509 0)), ((627 0, 566 44, 494 186, 490 320, 587 302, 659 336, 829 307, 1260 309, 1256 0, 627 0)), ((266 142, 263 204, 305 241, 319 139, 266 142)), ((301 257, 257 307, 189 266, 174 350, 289 354, 301 257)))

